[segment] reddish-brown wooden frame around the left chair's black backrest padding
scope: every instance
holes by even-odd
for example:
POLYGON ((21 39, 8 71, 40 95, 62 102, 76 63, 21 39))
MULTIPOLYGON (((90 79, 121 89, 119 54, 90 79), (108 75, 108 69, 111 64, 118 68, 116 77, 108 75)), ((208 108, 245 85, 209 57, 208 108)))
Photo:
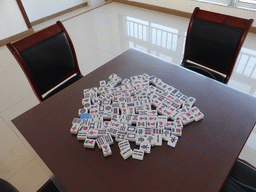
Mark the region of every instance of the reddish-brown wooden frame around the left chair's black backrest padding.
POLYGON ((73 57, 74 57, 74 61, 75 61, 75 69, 72 70, 71 72, 69 72, 67 75, 65 75, 64 77, 62 77, 61 79, 59 79, 59 81, 51 86, 49 86, 46 90, 44 90, 43 92, 46 93, 49 90, 51 90, 52 88, 54 88, 55 86, 57 86, 58 84, 60 84, 61 82, 63 82, 64 80, 66 80, 67 78, 69 78, 70 76, 72 76, 73 74, 77 74, 77 75, 81 75, 81 71, 79 69, 78 66, 78 62, 77 62, 77 57, 76 57, 76 53, 75 53, 75 49, 73 46, 73 43, 70 39, 70 36, 68 35, 67 30, 65 29, 65 27, 63 26, 63 24, 60 21, 57 21, 56 24, 47 27, 46 29, 43 29, 39 32, 36 32, 24 39, 21 39, 15 43, 8 43, 6 46, 8 47, 8 49, 11 51, 11 53, 14 55, 15 59, 18 61, 19 65, 21 66, 23 72, 25 73, 27 79, 29 80, 30 85, 33 88, 34 93, 36 94, 37 98, 39 99, 39 101, 44 101, 44 98, 42 97, 39 89, 37 88, 37 85, 35 83, 34 78, 32 77, 31 72, 29 71, 29 69, 27 68, 24 60, 22 59, 21 55, 19 54, 19 52, 21 52, 22 50, 25 50, 26 48, 29 48, 47 38, 52 37, 53 35, 56 35, 60 32, 64 32, 68 42, 70 44, 72 53, 73 53, 73 57))

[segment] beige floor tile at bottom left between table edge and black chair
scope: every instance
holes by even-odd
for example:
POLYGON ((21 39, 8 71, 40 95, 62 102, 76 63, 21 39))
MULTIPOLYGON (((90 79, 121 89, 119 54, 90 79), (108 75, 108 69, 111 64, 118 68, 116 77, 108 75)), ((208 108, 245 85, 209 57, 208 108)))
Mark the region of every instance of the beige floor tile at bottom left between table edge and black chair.
POLYGON ((20 192, 35 192, 42 187, 50 178, 33 160, 19 172, 8 179, 20 192))

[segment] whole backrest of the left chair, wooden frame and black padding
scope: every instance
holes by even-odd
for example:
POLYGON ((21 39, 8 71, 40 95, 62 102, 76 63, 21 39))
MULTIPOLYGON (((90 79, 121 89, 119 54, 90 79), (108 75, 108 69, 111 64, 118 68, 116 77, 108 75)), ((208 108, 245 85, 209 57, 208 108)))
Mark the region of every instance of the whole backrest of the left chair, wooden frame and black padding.
POLYGON ((74 46, 60 21, 7 47, 40 101, 59 83, 75 73, 81 74, 74 46))

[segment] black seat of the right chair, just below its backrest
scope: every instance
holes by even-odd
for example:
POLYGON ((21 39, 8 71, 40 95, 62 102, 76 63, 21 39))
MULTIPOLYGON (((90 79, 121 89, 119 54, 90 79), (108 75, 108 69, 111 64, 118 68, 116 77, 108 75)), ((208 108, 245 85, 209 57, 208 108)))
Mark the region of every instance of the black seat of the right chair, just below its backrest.
POLYGON ((199 65, 193 64, 193 63, 189 63, 189 62, 184 62, 181 64, 182 67, 185 67, 187 69, 190 69, 192 71, 195 71, 197 73, 200 73, 204 76, 207 76, 209 78, 215 79, 217 81, 220 81, 222 83, 224 83, 225 81, 225 77, 223 75, 220 75, 219 73, 216 73, 214 71, 208 70, 204 67, 201 67, 199 65))

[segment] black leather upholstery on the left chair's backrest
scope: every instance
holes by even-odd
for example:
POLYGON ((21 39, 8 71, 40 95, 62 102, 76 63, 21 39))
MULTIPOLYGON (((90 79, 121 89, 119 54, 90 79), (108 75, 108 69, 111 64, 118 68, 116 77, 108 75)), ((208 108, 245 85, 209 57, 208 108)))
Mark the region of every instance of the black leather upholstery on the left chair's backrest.
POLYGON ((64 32, 60 32, 20 52, 41 94, 75 69, 72 49, 64 32))

